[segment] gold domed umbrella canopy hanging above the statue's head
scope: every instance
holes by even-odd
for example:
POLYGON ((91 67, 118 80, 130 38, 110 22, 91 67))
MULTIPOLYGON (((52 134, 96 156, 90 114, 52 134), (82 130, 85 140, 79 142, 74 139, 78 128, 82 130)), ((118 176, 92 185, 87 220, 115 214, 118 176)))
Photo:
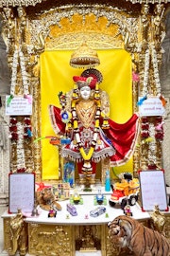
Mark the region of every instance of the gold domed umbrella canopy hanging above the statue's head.
POLYGON ((88 68, 100 64, 97 52, 83 43, 71 55, 70 65, 73 67, 88 68))

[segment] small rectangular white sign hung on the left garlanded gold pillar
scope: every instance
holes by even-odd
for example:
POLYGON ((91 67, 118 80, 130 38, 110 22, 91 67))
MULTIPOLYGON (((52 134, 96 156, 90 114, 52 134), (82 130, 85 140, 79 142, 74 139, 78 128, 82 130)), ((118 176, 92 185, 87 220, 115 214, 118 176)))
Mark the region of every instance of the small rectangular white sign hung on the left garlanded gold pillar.
POLYGON ((6 97, 7 116, 30 116, 32 115, 32 96, 6 97))

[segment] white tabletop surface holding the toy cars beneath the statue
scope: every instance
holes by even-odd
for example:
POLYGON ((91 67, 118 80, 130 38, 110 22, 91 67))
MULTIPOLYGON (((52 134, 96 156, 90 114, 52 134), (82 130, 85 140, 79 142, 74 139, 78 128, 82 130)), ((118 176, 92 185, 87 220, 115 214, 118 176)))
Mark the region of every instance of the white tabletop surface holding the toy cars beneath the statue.
MULTIPOLYGON (((81 195, 83 199, 83 205, 76 205, 77 216, 72 216, 67 211, 66 205, 69 203, 69 200, 60 201, 59 204, 62 207, 62 210, 59 210, 57 213, 57 217, 48 218, 48 211, 38 209, 40 215, 38 217, 31 217, 31 213, 26 213, 26 222, 27 223, 38 223, 38 224, 61 224, 61 225, 102 225, 107 224, 112 221, 115 217, 119 215, 123 215, 123 210, 120 208, 112 208, 109 204, 110 194, 106 195, 107 205, 104 206, 106 208, 106 213, 101 214, 97 217, 91 217, 90 211, 99 207, 99 205, 94 206, 93 204, 93 196, 94 195, 81 195)), ((103 206, 103 205, 102 205, 103 206)), ((149 213, 143 212, 141 207, 136 204, 131 207, 131 211, 133 214, 133 218, 137 220, 149 219, 149 213)), ((13 214, 8 214, 8 210, 5 211, 2 215, 2 218, 6 218, 12 216, 13 214)))

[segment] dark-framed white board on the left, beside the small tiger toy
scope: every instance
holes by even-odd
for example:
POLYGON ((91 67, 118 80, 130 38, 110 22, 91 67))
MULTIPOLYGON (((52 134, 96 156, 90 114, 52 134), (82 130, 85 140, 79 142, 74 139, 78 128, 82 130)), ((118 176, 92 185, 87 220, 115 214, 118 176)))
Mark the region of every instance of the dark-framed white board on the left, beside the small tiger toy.
POLYGON ((8 174, 8 213, 34 208, 35 174, 8 174))

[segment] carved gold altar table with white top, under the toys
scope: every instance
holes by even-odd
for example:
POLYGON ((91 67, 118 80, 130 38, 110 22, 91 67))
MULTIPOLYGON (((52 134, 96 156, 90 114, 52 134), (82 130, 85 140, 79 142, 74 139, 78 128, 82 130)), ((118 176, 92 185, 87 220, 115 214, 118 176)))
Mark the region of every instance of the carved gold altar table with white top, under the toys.
MULTIPOLYGON (((28 238, 28 253, 31 255, 64 255, 75 256, 77 251, 101 251, 102 256, 118 255, 116 247, 112 247, 109 237, 108 223, 116 216, 122 215, 120 208, 111 208, 108 200, 110 193, 102 193, 106 197, 105 203, 95 205, 93 197, 96 192, 79 192, 83 204, 76 204, 77 215, 74 216, 67 210, 70 200, 60 201, 62 210, 57 211, 56 217, 48 217, 48 211, 38 209, 40 215, 27 216, 26 239, 28 238), (97 217, 91 216, 91 211, 98 207, 106 210, 97 217)), ((139 205, 131 207, 133 217, 147 225, 149 214, 143 212, 139 205)), ((4 237, 5 249, 9 253, 11 247, 10 218, 13 215, 5 212, 4 237)), ((24 250, 23 250, 24 251, 24 250)), ((26 252, 26 246, 25 246, 26 252)), ((24 254, 21 255, 26 255, 24 254)))

